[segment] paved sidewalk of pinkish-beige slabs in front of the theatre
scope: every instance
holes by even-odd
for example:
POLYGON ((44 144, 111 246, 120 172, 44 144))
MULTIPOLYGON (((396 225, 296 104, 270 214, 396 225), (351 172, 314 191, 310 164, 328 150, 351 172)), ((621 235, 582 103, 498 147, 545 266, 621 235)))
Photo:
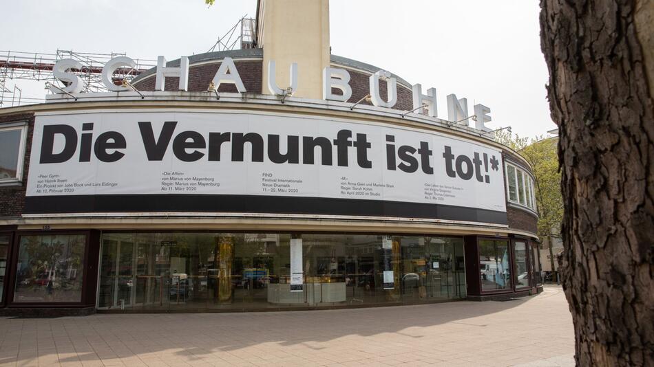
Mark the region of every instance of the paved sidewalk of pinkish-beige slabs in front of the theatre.
POLYGON ((0 366, 573 366, 556 286, 507 302, 0 318, 0 366))

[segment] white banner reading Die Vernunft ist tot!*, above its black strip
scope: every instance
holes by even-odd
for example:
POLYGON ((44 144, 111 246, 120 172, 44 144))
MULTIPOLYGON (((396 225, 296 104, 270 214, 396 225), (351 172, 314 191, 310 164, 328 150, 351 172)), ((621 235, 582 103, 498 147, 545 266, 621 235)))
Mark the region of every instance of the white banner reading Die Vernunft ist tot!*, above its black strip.
POLYGON ((501 161, 475 142, 308 115, 39 115, 27 195, 324 197, 505 212, 501 161))

